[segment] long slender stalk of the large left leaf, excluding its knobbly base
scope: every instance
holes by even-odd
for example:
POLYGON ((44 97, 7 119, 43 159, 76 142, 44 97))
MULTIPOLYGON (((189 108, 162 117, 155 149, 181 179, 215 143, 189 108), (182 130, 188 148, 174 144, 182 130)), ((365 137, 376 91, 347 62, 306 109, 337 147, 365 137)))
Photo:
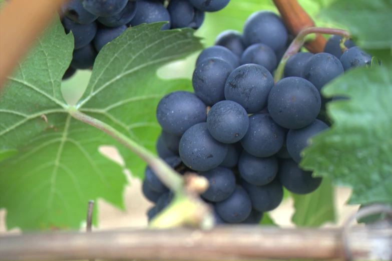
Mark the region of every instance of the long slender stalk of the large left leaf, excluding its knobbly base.
POLYGON ((154 170, 159 179, 171 190, 177 192, 183 189, 184 181, 182 176, 171 168, 164 160, 155 156, 145 147, 139 145, 134 140, 130 139, 117 129, 113 128, 109 124, 91 117, 75 107, 69 108, 69 113, 76 119, 79 119, 87 124, 90 124, 96 128, 99 128, 111 135, 113 138, 118 140, 120 143, 131 149, 139 157, 141 157, 147 164, 154 170))

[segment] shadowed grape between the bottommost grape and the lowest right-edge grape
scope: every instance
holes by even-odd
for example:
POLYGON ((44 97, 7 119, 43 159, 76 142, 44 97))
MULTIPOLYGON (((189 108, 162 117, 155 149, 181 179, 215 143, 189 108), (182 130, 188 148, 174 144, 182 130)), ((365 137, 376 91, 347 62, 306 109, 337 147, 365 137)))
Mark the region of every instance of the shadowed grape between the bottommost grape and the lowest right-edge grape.
POLYGON ((252 185, 246 181, 242 181, 242 185, 249 194, 253 208, 257 211, 273 210, 283 199, 283 187, 277 178, 263 186, 252 185))

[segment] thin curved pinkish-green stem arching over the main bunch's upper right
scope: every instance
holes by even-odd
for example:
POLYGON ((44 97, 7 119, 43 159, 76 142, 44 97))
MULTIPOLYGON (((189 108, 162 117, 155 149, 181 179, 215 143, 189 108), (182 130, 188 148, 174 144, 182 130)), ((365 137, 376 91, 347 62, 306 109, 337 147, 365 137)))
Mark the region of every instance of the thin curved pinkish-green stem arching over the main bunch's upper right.
POLYGON ((302 45, 306 41, 306 35, 310 33, 324 33, 324 34, 337 34, 341 35, 344 38, 350 38, 351 35, 348 31, 342 29, 335 29, 335 28, 324 28, 324 27, 309 27, 303 29, 298 33, 298 35, 294 38, 291 42, 290 46, 288 46, 286 52, 284 53, 282 59, 279 62, 279 66, 276 69, 274 81, 279 81, 283 76, 284 65, 286 65, 287 60, 295 53, 299 51, 302 45))

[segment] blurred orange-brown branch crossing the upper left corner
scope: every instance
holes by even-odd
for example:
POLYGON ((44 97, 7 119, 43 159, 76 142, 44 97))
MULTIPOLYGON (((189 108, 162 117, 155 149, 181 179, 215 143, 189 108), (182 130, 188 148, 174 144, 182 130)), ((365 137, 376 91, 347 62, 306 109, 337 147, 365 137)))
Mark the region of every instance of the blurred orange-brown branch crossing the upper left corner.
POLYGON ((67 0, 12 0, 0 13, 0 91, 7 76, 29 51, 67 0))

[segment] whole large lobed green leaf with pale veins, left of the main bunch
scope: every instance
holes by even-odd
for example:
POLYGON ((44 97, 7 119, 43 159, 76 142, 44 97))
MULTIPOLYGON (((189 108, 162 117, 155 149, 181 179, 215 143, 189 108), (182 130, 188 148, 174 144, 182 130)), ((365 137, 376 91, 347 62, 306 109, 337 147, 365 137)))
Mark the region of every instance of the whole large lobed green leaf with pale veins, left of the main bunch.
MULTIPOLYGON (((106 45, 78 103, 150 149, 160 131, 154 113, 159 99, 191 86, 189 80, 159 79, 157 68, 201 48, 193 30, 161 31, 162 24, 129 28, 106 45)), ((0 207, 8 211, 9 228, 79 228, 90 199, 124 207, 123 167, 143 175, 135 154, 68 114, 60 85, 73 36, 59 19, 44 35, 10 77, 0 102, 0 151, 19 151, 0 162, 0 207), (103 156, 98 151, 103 144, 121 148, 126 166, 103 156)))

